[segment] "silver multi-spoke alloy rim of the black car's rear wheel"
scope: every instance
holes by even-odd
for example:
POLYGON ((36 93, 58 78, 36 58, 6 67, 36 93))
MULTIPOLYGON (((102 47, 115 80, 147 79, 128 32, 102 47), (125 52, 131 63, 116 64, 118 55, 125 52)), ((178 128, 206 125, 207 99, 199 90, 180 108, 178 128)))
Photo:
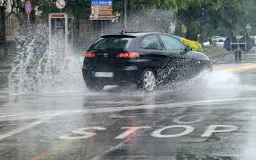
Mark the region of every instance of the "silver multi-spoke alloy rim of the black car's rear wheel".
POLYGON ((144 89, 147 91, 152 91, 156 84, 156 77, 151 70, 146 71, 143 76, 144 89))

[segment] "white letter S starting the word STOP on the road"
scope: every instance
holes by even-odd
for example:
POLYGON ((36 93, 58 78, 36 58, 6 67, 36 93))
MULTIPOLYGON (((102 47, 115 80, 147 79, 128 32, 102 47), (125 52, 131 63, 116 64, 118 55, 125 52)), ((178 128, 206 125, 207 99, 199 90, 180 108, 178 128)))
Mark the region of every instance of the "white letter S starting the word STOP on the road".
POLYGON ((60 139, 66 139, 66 140, 75 140, 75 139, 86 139, 86 138, 91 138, 96 135, 95 132, 92 130, 105 130, 105 128, 102 127, 92 127, 92 128, 83 128, 83 129, 76 129, 73 130, 73 134, 65 135, 65 136, 60 136, 60 139), (90 131, 86 131, 90 130, 90 131), (74 135, 75 134, 75 135, 74 135))

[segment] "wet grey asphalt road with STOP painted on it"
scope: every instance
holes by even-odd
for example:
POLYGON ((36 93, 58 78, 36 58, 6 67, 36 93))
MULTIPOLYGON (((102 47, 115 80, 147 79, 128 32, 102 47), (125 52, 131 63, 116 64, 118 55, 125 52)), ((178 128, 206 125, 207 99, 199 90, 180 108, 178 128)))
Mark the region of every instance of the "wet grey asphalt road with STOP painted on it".
POLYGON ((0 159, 256 159, 256 54, 152 93, 8 93, 0 71, 0 159), (255 58, 254 58, 255 57, 255 58))

